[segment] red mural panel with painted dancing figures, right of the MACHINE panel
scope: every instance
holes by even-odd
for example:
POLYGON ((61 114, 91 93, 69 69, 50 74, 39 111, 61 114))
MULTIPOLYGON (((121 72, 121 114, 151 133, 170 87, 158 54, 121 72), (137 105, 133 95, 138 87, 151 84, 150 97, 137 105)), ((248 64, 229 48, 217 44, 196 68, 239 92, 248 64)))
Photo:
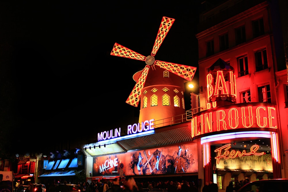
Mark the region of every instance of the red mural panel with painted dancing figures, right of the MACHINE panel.
POLYGON ((196 143, 128 152, 126 158, 126 175, 198 172, 196 143))

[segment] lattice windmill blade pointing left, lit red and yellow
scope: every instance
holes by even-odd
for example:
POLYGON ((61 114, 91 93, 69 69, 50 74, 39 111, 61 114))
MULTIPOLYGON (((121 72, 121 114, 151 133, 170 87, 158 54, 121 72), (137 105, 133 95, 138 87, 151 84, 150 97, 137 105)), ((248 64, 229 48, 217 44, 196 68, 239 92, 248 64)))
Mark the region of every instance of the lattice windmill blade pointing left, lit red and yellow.
POLYGON ((126 57, 130 59, 137 59, 137 60, 142 60, 145 61, 146 57, 134 52, 118 43, 114 44, 114 47, 110 53, 110 55, 118 56, 118 57, 126 57))

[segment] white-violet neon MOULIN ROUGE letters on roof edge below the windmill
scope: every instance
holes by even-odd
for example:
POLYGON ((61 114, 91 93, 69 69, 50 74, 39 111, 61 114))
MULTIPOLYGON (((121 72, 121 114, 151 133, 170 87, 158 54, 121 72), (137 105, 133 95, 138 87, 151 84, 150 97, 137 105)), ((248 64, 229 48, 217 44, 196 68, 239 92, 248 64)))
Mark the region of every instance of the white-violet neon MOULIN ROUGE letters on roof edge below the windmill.
MULTIPOLYGON (((144 122, 140 123, 134 123, 133 125, 128 125, 127 127, 127 135, 131 134, 137 134, 141 132, 148 132, 150 130, 154 130, 154 119, 150 119, 149 121, 146 120, 144 122)), ((101 133, 98 133, 98 141, 102 140, 108 140, 108 139, 115 139, 121 137, 121 128, 109 130, 109 131, 103 131, 101 133)))

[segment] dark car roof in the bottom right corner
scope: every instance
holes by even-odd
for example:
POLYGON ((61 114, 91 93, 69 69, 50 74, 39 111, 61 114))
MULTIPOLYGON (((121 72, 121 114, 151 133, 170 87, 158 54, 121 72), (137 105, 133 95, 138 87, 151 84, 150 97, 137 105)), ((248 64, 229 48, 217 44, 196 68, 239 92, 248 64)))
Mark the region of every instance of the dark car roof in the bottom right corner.
POLYGON ((288 179, 257 180, 247 183, 237 192, 287 192, 288 179))

